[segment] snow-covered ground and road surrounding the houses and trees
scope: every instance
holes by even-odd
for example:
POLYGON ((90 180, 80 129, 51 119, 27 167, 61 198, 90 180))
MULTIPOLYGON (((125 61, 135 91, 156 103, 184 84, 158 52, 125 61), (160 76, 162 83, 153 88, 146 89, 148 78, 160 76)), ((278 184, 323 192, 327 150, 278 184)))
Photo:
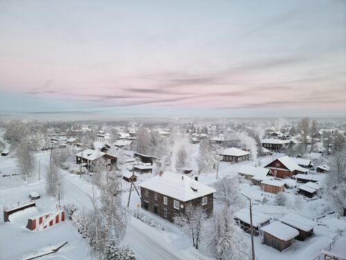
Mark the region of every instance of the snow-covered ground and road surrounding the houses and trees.
MULTIPOLYGON (((265 166, 273 159, 282 156, 282 154, 275 154, 267 157, 262 157, 260 163, 265 166)), ((313 155, 315 157, 315 155, 313 155)), ((317 155, 316 155, 317 157, 317 155)), ((44 184, 44 166, 48 164, 49 152, 37 153, 37 161, 40 161, 41 179, 38 180, 37 167, 32 177, 28 178, 28 183, 23 183, 20 175, 12 175, 17 173, 15 160, 10 157, 0 157, 0 207, 15 204, 24 200, 28 200, 30 191, 37 191, 40 193, 41 198, 37 200, 37 207, 34 209, 26 209, 11 216, 10 223, 0 223, 0 259, 21 259, 22 255, 30 254, 33 250, 45 248, 50 244, 60 241, 68 241, 59 252, 54 254, 54 259, 93 259, 91 248, 82 239, 77 232, 77 228, 71 220, 67 219, 56 226, 44 229, 40 232, 30 231, 26 229, 26 223, 29 216, 37 215, 39 213, 48 213, 55 209, 57 200, 46 195, 44 184), (10 175, 2 177, 2 175, 10 175), (15 245, 13 243, 15 241, 15 245)), ((248 161, 242 164, 255 166, 258 162, 248 161)), ((220 162, 219 171, 216 170, 210 173, 201 173, 199 175, 199 182, 212 186, 215 182, 222 177, 236 177, 237 170, 242 164, 230 164, 228 162, 220 162)), ((122 168, 126 165, 122 165, 122 168)), ((138 181, 135 183, 139 190, 140 183, 152 177, 153 174, 138 174, 138 181)), ((90 195, 93 191, 93 186, 90 182, 90 177, 87 175, 74 175, 63 171, 64 176, 64 197, 61 204, 67 205, 72 203, 81 211, 88 211, 91 209, 90 195)), ((122 180, 123 188, 123 205, 127 206, 129 199, 130 184, 122 180)), ((252 186, 244 181, 240 188, 242 191, 253 193, 263 193, 260 187, 252 186)), ((289 202, 293 203, 295 189, 287 189, 289 202)), ((279 252, 261 243, 261 236, 255 237, 255 253, 259 260, 270 259, 313 259, 320 254, 329 243, 331 239, 338 234, 338 232, 346 229, 346 219, 336 218, 335 214, 329 213, 328 202, 324 199, 318 200, 303 200, 300 209, 294 207, 277 207, 273 205, 274 195, 271 193, 266 194, 268 202, 266 205, 261 205, 255 202, 254 207, 265 211, 266 214, 275 218, 280 218, 286 213, 295 213, 305 216, 309 219, 319 218, 315 220, 320 224, 315 227, 315 234, 307 241, 298 241, 295 245, 284 252, 279 252), (322 225, 321 225, 322 224, 322 225)), ((123 243, 130 245, 134 249, 138 259, 211 259, 203 254, 201 251, 192 247, 189 239, 185 238, 180 229, 163 218, 159 218, 154 214, 137 208, 140 205, 140 197, 135 190, 131 192, 131 199, 129 202, 129 223, 127 225, 127 233, 123 243), (156 228, 143 223, 143 221, 132 216, 131 212, 139 211, 139 214, 147 214, 148 218, 157 223, 159 227, 156 228)), ((217 210, 219 202, 215 201, 215 210, 217 210)), ((2 214, 1 214, 2 218, 2 214)), ((1 219, 2 220, 2 219, 1 219)), ((250 236, 248 235, 250 241, 250 236)), ((45 259, 45 258, 42 258, 45 259)), ((46 257, 48 259, 48 256, 46 257)))

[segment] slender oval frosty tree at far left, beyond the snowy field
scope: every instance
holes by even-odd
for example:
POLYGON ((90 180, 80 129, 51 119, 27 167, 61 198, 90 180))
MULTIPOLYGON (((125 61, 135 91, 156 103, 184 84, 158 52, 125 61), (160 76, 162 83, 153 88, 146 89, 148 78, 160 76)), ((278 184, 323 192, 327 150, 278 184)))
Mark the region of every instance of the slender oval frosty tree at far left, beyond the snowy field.
POLYGON ((35 167, 33 146, 30 144, 30 141, 21 140, 19 145, 16 147, 15 157, 19 171, 25 181, 35 167))

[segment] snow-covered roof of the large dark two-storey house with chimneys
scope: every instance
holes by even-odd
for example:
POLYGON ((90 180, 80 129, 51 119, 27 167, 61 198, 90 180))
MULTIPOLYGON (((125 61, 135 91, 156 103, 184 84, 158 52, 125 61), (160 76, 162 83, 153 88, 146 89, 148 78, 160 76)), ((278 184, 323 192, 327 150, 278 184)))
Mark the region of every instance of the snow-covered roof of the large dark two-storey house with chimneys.
POLYGON ((169 171, 165 171, 163 175, 156 175, 150 178, 140 184, 140 187, 156 191, 183 202, 215 193, 215 189, 201 182, 197 182, 187 175, 169 171))

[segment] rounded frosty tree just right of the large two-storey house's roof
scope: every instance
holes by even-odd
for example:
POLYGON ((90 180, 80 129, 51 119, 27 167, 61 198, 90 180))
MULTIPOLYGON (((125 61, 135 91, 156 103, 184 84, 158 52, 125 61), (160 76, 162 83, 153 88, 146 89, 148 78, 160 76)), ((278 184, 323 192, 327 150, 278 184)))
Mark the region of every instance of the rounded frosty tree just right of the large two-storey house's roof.
POLYGON ((239 189, 239 180, 237 178, 223 177, 216 182, 217 198, 224 203, 232 212, 242 209, 246 201, 239 189))

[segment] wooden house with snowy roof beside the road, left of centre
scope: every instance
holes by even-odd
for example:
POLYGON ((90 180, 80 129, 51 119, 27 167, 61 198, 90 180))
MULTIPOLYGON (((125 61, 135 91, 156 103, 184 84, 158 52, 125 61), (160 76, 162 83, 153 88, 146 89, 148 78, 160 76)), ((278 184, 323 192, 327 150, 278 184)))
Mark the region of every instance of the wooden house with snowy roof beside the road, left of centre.
POLYGON ((118 157, 114 155, 109 155, 108 153, 103 153, 99 150, 91 150, 86 149, 82 152, 75 155, 76 157, 76 163, 82 164, 82 166, 85 166, 89 169, 89 171, 93 171, 93 168, 100 163, 104 164, 111 170, 113 167, 116 166, 116 162, 118 157))

